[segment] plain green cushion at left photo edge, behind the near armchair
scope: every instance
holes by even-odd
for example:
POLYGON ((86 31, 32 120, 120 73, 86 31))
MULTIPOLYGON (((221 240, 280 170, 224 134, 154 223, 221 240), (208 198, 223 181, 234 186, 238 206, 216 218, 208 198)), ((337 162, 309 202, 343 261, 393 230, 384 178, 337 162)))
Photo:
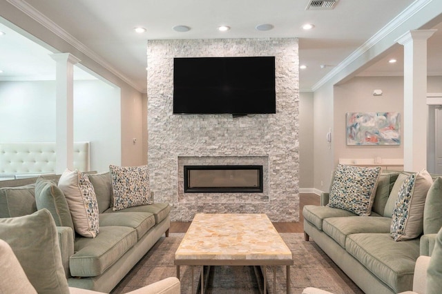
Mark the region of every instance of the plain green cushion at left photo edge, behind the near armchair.
POLYGON ((37 211, 35 184, 0 188, 0 217, 21 217, 37 211))

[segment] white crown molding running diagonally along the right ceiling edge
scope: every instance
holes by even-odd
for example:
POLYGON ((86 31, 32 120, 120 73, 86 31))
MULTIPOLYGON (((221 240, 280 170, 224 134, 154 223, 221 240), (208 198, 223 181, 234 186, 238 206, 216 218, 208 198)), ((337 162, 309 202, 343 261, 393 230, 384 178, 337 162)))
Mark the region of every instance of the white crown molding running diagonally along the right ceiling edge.
POLYGON ((318 88, 326 84, 333 77, 338 75, 339 72, 344 70, 347 66, 349 66, 353 61, 361 57, 365 54, 370 48, 375 46, 377 43, 381 42, 387 35, 396 30, 399 26, 401 26, 405 21, 410 19, 414 14, 425 8, 429 3, 434 0, 417 0, 408 6, 403 12, 398 14, 392 21, 387 23, 381 30, 376 32, 370 39, 365 41, 358 49, 356 49, 351 55, 345 58, 341 63, 338 64, 335 68, 333 68, 330 72, 327 73, 322 79, 320 79, 316 84, 314 84, 311 89, 316 91, 318 88))

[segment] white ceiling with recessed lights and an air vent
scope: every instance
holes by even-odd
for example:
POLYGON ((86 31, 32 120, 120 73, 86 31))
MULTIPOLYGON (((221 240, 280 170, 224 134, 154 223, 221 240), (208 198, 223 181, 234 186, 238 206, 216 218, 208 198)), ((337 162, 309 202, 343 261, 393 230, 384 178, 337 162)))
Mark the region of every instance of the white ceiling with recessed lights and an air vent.
MULTIPOLYGON (((300 71, 300 89, 311 89, 334 66, 351 55, 414 0, 339 0, 334 10, 305 10, 308 0, 26 2, 32 9, 44 14, 54 25, 86 46, 90 52, 95 52, 135 88, 146 92, 148 39, 297 37, 300 64, 307 65, 307 69, 300 71), (256 30, 255 27, 262 23, 273 24, 273 30, 256 30), (315 28, 309 31, 302 30, 301 26, 305 23, 313 23, 315 28), (191 30, 175 32, 172 28, 177 25, 189 26, 191 30), (230 26, 231 30, 218 32, 216 28, 220 25, 230 26), (133 32, 133 28, 137 26, 146 28, 147 32, 141 35, 133 32), (321 65, 325 67, 321 68, 321 65)), ((439 30, 430 38, 429 48, 432 50, 429 49, 429 55, 441 52, 441 35, 439 30)), ((0 41, 3 43, 7 36, 8 34, 0 37, 0 41)), ((31 57, 44 59, 40 56, 47 56, 47 51, 29 50, 25 48, 25 43, 0 46, 0 69, 5 71, 0 75, 32 75, 32 72, 27 72, 34 68, 31 57), (27 54, 26 59, 23 58, 23 54, 27 54), (26 61, 25 66, 21 61, 26 61), (8 74, 7 70, 2 68, 8 63, 15 63, 15 73, 8 74)), ((401 75, 402 60, 402 48, 398 46, 361 75, 376 75, 379 72, 384 72, 384 75, 401 75), (386 62, 390 57, 398 59, 393 66, 386 62)), ((429 70, 441 72, 441 62, 439 58, 437 62, 429 61, 429 70)))

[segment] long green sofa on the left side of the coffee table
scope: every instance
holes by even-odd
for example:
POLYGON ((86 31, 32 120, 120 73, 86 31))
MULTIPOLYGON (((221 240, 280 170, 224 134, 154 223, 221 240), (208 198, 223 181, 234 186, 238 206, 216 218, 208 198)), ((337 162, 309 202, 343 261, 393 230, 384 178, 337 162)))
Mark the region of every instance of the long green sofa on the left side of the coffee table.
MULTIPOLYGON (((68 284, 110 292, 162 237, 169 235, 171 206, 165 203, 113 211, 109 173, 89 174, 99 208, 99 234, 95 238, 73 234, 57 226, 61 259, 68 284)), ((47 177, 57 183, 59 175, 47 177)), ((19 217, 37 211, 37 178, 0 181, 0 217, 19 217)))

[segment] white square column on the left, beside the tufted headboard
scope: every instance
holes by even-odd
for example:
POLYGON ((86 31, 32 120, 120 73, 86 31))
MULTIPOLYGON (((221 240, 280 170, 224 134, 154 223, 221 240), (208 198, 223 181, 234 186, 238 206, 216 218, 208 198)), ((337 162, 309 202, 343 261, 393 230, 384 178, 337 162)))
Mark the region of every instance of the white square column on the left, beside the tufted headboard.
POLYGON ((70 53, 51 55, 56 71, 56 172, 74 168, 74 64, 80 60, 70 53))

